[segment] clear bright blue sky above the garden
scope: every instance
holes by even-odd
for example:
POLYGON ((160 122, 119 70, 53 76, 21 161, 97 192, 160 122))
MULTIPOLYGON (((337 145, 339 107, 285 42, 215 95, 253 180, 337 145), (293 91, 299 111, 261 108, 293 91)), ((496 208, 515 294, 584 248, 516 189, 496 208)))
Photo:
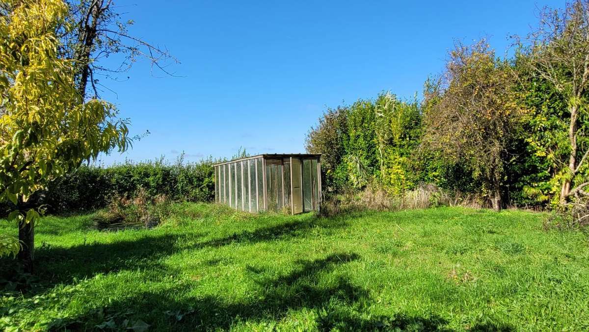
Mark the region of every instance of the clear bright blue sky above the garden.
MULTIPOLYGON (((102 98, 151 134, 111 164, 305 152, 326 107, 391 91, 421 92, 453 41, 489 36, 504 54, 537 8, 564 1, 162 1, 117 0, 131 35, 166 47, 181 64, 167 77, 137 62, 102 98), (129 77, 127 79, 127 76, 129 77)), ((116 59, 108 59, 115 63, 116 59)))

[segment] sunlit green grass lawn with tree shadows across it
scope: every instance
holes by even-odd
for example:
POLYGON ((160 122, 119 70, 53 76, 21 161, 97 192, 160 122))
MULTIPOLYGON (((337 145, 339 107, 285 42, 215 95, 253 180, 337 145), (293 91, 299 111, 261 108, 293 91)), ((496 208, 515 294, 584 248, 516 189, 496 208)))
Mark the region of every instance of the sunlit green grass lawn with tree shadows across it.
POLYGON ((588 238, 542 214, 174 209, 151 230, 44 218, 38 277, 6 284, 0 330, 589 329, 588 238))

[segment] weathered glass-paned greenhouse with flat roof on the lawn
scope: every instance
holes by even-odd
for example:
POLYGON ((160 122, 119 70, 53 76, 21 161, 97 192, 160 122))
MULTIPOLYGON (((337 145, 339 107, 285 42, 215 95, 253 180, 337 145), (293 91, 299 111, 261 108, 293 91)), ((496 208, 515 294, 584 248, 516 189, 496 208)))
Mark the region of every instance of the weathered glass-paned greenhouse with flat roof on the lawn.
POLYGON ((319 211, 320 154, 261 154, 215 167, 215 200, 239 211, 319 211))

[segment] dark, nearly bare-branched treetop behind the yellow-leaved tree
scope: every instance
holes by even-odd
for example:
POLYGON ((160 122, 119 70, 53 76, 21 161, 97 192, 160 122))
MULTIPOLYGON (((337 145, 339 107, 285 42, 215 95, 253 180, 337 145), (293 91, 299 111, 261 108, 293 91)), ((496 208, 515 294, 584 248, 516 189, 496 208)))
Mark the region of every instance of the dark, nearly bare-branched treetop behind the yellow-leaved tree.
POLYGON ((133 20, 125 21, 115 10, 112 0, 66 0, 68 15, 57 34, 62 43, 60 56, 72 59, 75 68, 75 84, 85 100, 87 93, 99 98, 100 78, 117 79, 127 72, 138 58, 147 59, 166 75, 168 61, 178 63, 165 48, 157 47, 144 39, 133 36, 128 27, 133 20), (70 28, 73 27, 73 28, 70 28), (101 60, 118 55, 118 67, 104 67, 101 60))

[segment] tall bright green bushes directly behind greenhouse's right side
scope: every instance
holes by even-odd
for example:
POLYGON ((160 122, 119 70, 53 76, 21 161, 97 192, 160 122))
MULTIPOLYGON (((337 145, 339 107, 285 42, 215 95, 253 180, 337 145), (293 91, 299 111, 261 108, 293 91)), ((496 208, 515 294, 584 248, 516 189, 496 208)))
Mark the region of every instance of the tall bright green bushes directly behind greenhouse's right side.
POLYGON ((375 101, 327 109, 309 131, 306 148, 322 154, 328 194, 347 187, 362 189, 372 182, 398 194, 415 184, 410 155, 420 126, 417 102, 402 102, 386 92, 375 101))

